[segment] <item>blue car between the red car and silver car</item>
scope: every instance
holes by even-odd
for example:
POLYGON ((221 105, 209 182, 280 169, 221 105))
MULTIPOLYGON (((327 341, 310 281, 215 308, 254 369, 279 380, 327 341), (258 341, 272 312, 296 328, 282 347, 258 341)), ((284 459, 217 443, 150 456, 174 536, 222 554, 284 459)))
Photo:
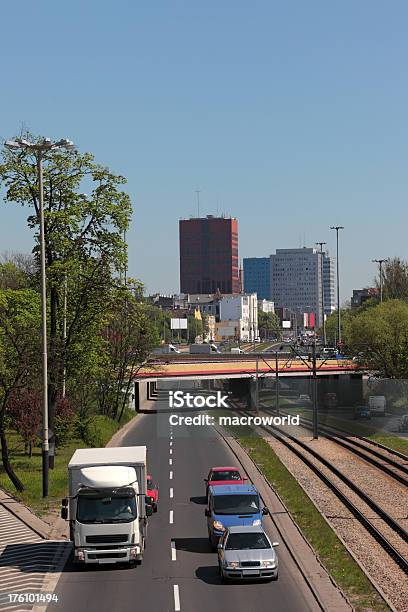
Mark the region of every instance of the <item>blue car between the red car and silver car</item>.
POLYGON ((224 535, 227 527, 239 525, 262 525, 262 519, 268 514, 261 497, 252 484, 218 485, 208 488, 207 517, 208 539, 216 550, 218 540, 224 535))

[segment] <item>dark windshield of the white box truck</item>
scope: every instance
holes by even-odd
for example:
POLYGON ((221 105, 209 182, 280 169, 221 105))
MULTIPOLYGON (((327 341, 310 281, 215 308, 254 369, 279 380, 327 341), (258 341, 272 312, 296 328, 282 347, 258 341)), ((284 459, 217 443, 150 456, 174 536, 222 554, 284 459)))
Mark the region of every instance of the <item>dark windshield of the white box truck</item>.
POLYGON ((80 523, 130 523, 136 517, 136 497, 132 491, 82 491, 78 495, 80 523))

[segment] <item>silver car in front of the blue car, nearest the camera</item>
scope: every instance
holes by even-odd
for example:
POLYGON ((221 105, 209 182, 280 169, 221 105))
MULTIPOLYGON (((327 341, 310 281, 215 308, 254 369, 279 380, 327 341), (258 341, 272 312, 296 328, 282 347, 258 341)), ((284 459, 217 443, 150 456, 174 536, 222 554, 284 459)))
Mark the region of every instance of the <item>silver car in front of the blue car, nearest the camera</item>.
POLYGON ((278 542, 269 540, 262 527, 229 527, 218 544, 221 580, 277 580, 278 542))

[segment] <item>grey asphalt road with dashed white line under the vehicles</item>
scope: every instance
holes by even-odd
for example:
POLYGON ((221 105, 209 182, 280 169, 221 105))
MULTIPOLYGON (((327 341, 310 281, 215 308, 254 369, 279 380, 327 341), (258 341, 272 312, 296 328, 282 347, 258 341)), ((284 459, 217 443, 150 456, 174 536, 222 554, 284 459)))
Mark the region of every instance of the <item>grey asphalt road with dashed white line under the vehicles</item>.
MULTIPOLYGON (((142 565, 76 570, 69 561, 56 587, 58 610, 319 610, 282 545, 277 582, 221 584, 207 539, 203 478, 211 466, 236 460, 212 429, 174 426, 171 434, 168 419, 160 413, 140 416, 122 443, 147 445, 149 472, 159 483, 159 511, 149 519, 142 565)), ((279 540, 271 522, 267 528, 279 540)))

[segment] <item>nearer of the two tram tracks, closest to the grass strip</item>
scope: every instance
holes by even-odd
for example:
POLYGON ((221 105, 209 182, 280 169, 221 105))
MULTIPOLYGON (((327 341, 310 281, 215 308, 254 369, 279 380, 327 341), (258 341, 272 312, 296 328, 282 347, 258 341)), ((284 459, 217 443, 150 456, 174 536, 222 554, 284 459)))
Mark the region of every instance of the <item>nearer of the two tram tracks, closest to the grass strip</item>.
MULTIPOLYGON (((242 414, 245 414, 242 410, 242 414)), ((261 425, 261 429, 272 435, 276 440, 288 448, 294 455, 296 455, 310 470, 318 476, 318 478, 336 495, 341 503, 353 514, 358 522, 375 538, 382 549, 395 561, 395 563, 401 568, 401 570, 408 575, 408 560, 397 550, 397 548, 391 544, 391 542, 381 533, 381 531, 374 525, 374 523, 368 519, 361 510, 347 497, 343 491, 331 480, 313 461, 306 456, 304 453, 308 453, 311 457, 316 459, 319 463, 325 466, 334 474, 339 480, 341 480, 353 493, 355 493, 359 499, 361 499, 375 514, 378 518, 382 519, 383 522, 397 534, 403 542, 408 542, 408 533, 405 529, 397 523, 385 510, 383 510, 378 504, 364 491, 361 490, 352 480, 350 480, 345 474, 343 474, 338 468, 336 468, 330 461, 322 457, 315 450, 309 448, 307 444, 295 438, 291 434, 282 431, 278 427, 261 425), (304 452, 302 452, 304 451, 304 452)))

